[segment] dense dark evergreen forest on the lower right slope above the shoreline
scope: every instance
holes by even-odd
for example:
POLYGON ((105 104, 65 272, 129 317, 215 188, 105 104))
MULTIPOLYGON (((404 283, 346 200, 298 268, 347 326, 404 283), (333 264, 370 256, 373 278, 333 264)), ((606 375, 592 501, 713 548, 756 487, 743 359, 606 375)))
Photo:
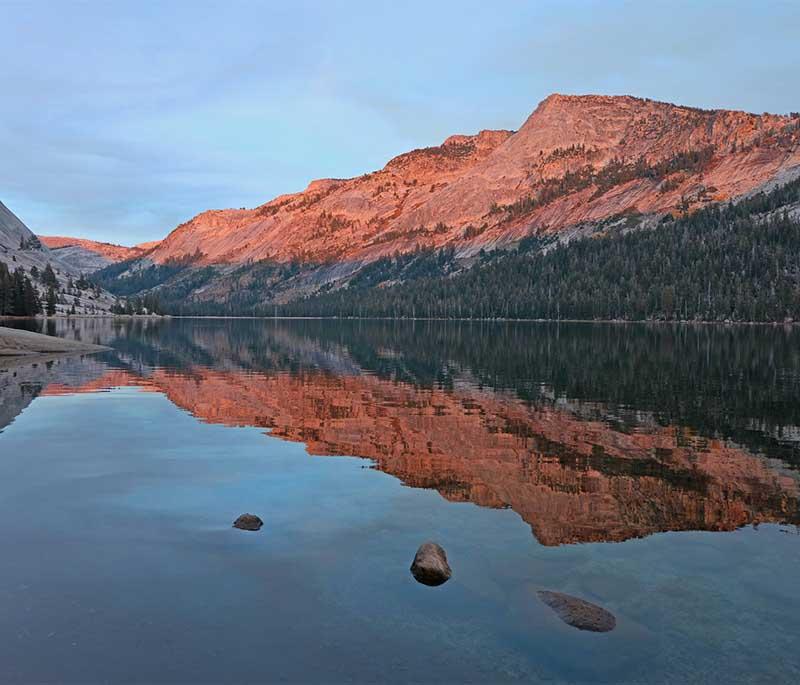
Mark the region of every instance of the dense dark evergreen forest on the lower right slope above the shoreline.
MULTIPOLYGON (((284 305, 283 315, 592 320, 800 320, 800 179, 654 229, 525 241, 471 269, 388 287, 375 278, 284 305)), ((430 259, 427 260, 430 263, 430 259)), ((384 264, 384 268, 385 268, 384 264)), ((373 274, 374 276, 374 274, 373 274)))

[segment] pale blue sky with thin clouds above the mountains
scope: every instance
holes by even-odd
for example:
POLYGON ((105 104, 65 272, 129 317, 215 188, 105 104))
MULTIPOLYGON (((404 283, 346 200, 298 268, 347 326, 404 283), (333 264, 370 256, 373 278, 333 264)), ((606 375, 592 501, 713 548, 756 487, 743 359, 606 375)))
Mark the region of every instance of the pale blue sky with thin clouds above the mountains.
POLYGON ((121 244, 547 95, 800 110, 800 0, 0 0, 0 201, 121 244))

